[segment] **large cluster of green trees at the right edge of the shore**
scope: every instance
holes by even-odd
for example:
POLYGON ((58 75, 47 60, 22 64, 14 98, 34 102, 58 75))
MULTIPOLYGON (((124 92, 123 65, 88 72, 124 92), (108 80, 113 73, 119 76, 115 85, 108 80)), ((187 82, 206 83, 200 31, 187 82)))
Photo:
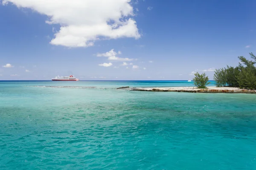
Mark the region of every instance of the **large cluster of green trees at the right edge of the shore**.
POLYGON ((253 60, 243 56, 238 57, 239 65, 220 68, 215 71, 213 79, 217 87, 239 87, 243 89, 256 89, 256 56, 249 53, 253 60))

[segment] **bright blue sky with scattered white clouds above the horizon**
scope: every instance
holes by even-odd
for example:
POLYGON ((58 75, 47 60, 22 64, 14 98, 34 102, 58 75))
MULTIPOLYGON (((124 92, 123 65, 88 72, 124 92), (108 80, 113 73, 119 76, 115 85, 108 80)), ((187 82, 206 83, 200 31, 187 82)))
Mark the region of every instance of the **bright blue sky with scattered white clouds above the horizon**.
POLYGON ((255 0, 0 0, 0 80, 188 80, 256 49, 255 0))

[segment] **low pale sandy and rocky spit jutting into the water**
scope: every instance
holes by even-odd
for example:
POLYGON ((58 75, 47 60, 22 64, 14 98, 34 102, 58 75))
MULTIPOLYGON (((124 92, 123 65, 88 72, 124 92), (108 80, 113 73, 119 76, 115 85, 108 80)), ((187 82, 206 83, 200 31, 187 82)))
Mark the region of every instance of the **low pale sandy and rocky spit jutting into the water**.
POLYGON ((186 92, 186 93, 246 93, 256 94, 256 90, 247 90, 230 87, 208 86, 207 88, 196 87, 169 87, 169 88, 123 88, 130 91, 152 91, 152 92, 186 92))

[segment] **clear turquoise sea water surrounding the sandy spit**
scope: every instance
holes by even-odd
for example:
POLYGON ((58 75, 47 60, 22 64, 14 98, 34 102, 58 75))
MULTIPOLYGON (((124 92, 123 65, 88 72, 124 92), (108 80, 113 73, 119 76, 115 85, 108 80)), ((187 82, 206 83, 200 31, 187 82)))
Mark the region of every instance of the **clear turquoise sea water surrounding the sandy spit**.
POLYGON ((0 82, 0 169, 255 170, 256 95, 0 82))

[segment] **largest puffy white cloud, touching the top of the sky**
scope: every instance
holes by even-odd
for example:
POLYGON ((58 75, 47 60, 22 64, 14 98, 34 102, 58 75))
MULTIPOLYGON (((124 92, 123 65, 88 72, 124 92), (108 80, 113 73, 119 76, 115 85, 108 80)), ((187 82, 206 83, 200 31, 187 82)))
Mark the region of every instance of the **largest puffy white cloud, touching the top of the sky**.
POLYGON ((47 15, 47 24, 60 24, 53 45, 88 47, 96 40, 140 38, 130 0, 3 0, 47 15))

